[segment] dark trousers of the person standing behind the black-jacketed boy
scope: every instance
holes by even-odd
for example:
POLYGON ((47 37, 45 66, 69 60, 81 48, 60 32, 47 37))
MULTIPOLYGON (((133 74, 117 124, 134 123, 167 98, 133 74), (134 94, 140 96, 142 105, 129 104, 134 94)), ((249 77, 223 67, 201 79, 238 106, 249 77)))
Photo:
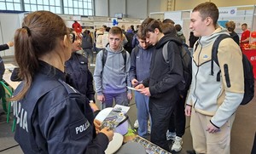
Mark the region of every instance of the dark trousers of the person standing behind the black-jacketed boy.
POLYGON ((177 100, 177 106, 172 113, 169 123, 169 132, 176 132, 178 137, 182 137, 185 133, 186 116, 185 116, 186 97, 177 100))

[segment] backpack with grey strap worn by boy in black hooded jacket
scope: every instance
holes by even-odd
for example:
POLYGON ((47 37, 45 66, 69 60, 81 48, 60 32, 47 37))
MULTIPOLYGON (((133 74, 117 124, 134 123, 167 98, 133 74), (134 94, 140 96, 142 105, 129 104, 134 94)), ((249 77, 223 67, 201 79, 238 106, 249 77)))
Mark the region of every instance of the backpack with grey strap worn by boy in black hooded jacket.
MULTIPOLYGON (((175 40, 171 40, 174 41, 175 40)), ((170 42, 170 41, 169 41, 170 42)), ((163 57, 166 61, 166 63, 169 63, 168 61, 168 51, 167 51, 167 47, 168 47, 168 43, 167 42, 164 47, 163 47, 163 57)), ((180 48, 181 52, 180 52, 180 56, 181 56, 181 60, 182 60, 182 64, 183 64, 183 78, 184 80, 181 83, 177 84, 177 89, 179 90, 180 94, 183 94, 183 96, 185 96, 189 90, 191 81, 192 81, 192 57, 190 55, 190 51, 189 51, 189 46, 185 43, 183 43, 182 45, 178 45, 178 47, 180 48)))

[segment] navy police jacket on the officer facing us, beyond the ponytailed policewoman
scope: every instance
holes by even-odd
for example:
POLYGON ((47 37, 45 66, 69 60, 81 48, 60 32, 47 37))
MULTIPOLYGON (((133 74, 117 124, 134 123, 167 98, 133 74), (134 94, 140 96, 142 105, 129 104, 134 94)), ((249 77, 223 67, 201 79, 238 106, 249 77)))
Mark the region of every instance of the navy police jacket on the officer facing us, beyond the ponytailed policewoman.
POLYGON ((86 95, 89 100, 95 100, 93 77, 88 69, 88 59, 81 54, 73 53, 65 63, 65 71, 69 75, 68 83, 86 95))

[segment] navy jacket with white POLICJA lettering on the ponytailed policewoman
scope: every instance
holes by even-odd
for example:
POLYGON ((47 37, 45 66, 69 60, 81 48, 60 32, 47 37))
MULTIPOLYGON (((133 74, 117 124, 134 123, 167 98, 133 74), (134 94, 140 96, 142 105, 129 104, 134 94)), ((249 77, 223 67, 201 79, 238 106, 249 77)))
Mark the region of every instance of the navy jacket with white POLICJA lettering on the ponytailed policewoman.
POLYGON ((40 61, 26 96, 15 101, 15 140, 24 153, 98 154, 107 149, 107 135, 95 135, 88 100, 64 81, 62 71, 40 61))

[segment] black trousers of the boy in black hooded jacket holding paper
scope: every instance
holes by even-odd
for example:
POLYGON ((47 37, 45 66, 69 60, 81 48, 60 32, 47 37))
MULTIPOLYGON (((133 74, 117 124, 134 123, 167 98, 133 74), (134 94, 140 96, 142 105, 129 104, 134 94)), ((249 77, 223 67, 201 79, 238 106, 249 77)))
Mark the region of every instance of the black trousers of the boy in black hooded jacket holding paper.
MULTIPOLYGON (((174 102, 177 102, 175 100, 174 102)), ((149 99, 149 113, 151 116, 151 142, 159 145, 166 151, 170 151, 166 141, 166 131, 169 126, 172 112, 175 109, 175 103, 172 102, 152 102, 149 99)))

